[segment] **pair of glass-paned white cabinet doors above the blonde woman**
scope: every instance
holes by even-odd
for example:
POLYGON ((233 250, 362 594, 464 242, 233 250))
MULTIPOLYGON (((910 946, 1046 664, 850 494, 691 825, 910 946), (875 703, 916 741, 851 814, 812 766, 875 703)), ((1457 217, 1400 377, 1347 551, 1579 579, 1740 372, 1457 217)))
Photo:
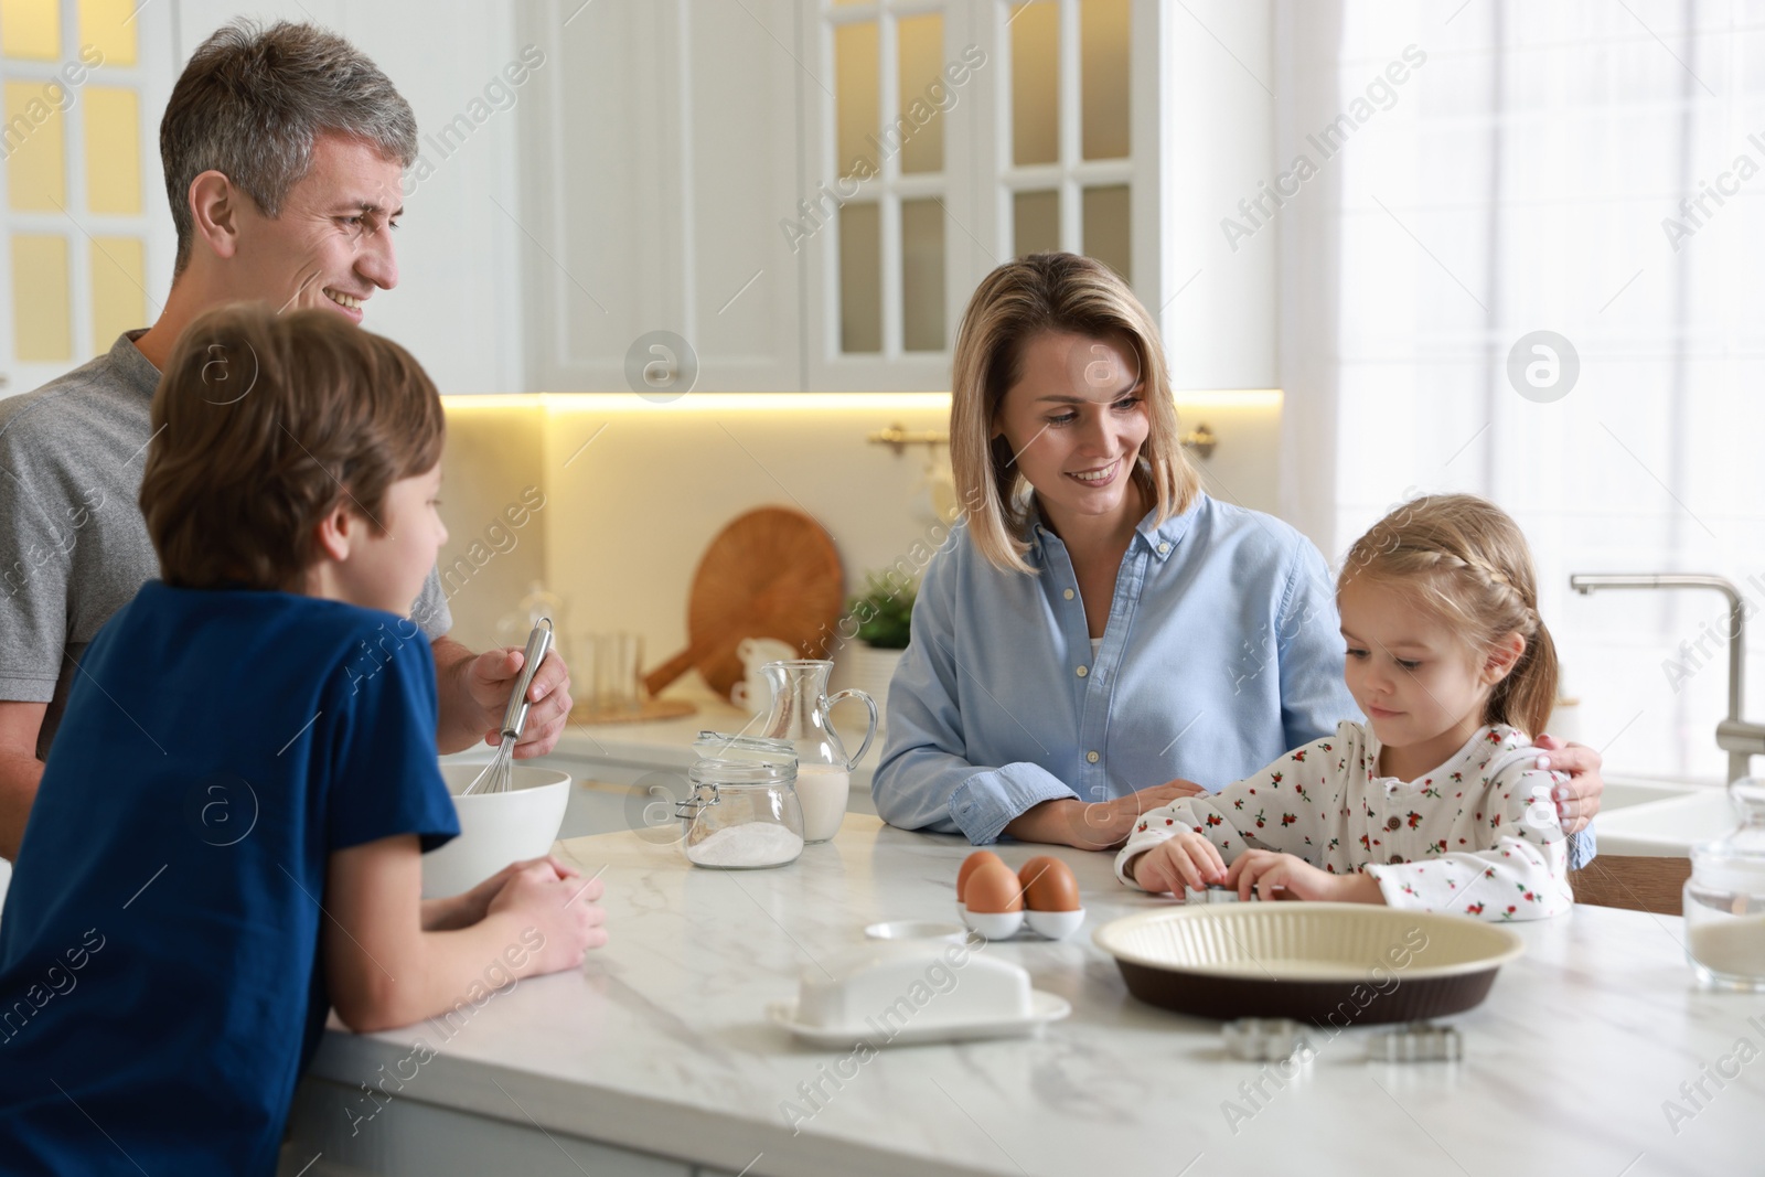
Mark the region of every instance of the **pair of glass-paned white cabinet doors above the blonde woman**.
POLYGON ((1156 305, 1158 168, 1137 145, 1158 143, 1160 0, 800 12, 810 388, 948 388, 969 295, 1029 252, 1087 252, 1156 305))

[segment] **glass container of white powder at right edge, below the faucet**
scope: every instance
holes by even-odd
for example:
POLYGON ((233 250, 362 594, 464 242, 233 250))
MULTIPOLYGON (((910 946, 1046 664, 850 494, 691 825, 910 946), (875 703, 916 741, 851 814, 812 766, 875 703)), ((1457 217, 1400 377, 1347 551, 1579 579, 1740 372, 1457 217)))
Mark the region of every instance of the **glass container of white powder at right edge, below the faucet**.
POLYGON ((1698 979, 1765 990, 1765 778, 1728 785, 1740 826, 1691 852, 1686 955, 1698 979))

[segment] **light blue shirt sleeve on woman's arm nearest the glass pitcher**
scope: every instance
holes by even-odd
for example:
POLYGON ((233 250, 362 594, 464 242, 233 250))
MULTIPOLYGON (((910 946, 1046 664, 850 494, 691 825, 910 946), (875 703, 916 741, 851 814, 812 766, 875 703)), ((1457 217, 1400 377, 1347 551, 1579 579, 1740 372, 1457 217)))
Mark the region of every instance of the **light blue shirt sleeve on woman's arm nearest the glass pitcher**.
POLYGON ((1077 796, 1040 764, 971 764, 955 651, 955 586, 948 552, 932 561, 913 605, 913 641, 888 690, 888 746, 870 782, 891 826, 997 842, 1034 805, 1077 796))

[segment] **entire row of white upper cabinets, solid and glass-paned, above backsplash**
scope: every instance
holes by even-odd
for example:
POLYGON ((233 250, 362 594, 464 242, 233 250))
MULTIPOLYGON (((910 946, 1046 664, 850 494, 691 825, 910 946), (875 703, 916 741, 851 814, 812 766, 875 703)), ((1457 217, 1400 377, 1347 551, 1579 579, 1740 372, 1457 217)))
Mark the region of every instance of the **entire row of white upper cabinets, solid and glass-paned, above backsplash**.
POLYGON ((530 0, 517 41, 560 60, 522 122, 530 386, 948 388, 976 282, 1038 249, 1124 272, 1179 388, 1271 386, 1274 233, 1209 252, 1266 171, 1237 90, 1271 28, 1267 0, 530 0))

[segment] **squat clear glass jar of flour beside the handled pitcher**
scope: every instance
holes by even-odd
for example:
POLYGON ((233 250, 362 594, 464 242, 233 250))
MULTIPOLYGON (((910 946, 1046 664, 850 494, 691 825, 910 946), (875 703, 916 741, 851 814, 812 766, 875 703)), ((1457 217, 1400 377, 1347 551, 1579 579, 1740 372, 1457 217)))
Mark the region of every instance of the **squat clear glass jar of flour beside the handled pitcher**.
POLYGON ((803 852, 796 755, 782 739, 699 732, 692 796, 674 806, 694 866, 784 866, 803 852))

